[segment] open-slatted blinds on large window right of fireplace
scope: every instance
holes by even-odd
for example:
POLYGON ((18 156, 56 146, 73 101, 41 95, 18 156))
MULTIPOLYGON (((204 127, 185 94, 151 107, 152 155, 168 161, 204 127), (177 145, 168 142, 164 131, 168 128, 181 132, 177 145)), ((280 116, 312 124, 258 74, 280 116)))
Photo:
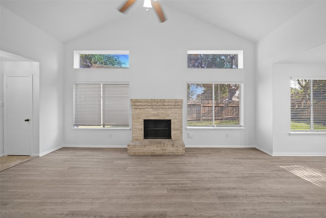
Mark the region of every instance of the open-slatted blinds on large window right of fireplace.
POLYGON ((243 126, 242 84, 188 83, 187 126, 243 126))

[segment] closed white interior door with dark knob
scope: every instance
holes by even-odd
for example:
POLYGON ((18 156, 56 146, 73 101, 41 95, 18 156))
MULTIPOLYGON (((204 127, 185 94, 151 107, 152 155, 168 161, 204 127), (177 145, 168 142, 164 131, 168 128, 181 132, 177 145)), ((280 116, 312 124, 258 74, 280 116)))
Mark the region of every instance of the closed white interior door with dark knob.
POLYGON ((5 155, 32 155, 32 76, 5 76, 5 155))

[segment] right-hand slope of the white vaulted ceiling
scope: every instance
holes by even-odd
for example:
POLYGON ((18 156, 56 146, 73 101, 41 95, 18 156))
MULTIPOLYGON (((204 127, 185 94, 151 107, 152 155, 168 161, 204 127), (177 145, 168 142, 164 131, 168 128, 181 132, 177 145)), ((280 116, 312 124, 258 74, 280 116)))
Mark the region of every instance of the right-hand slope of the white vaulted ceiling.
POLYGON ((255 42, 309 7, 313 1, 204 0, 166 1, 166 4, 255 42))

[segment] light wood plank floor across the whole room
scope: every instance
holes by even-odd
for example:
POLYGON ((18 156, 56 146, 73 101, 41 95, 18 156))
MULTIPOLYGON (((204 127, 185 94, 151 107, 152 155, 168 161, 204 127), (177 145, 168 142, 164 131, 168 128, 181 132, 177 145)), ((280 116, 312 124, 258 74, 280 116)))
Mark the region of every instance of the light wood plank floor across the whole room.
POLYGON ((326 157, 63 148, 1 172, 6 217, 326 217, 326 157), (280 167, 282 166, 282 167, 280 167))

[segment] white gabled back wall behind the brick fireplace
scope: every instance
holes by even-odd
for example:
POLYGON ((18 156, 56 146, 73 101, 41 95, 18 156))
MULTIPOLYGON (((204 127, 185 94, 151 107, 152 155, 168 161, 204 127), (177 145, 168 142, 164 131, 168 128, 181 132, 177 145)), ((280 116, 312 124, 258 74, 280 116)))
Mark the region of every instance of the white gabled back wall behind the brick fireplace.
POLYGON ((135 11, 65 44, 66 146, 126 147, 131 140, 131 130, 72 129, 74 81, 127 81, 131 99, 183 99, 186 147, 254 146, 254 44, 171 8, 164 23, 153 11, 135 11), (129 50, 130 67, 73 69, 74 50, 129 50), (187 69, 187 50, 243 50, 244 68, 187 69), (194 138, 187 138, 186 84, 215 81, 244 82, 245 129, 191 130, 194 138))

